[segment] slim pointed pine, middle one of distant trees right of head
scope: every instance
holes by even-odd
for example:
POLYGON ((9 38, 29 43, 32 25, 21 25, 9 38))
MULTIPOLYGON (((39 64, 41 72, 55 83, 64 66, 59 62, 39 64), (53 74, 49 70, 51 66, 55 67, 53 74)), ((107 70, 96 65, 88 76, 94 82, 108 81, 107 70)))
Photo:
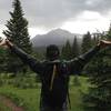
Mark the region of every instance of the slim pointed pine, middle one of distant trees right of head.
POLYGON ((74 37, 73 43, 72 43, 72 58, 75 58, 80 54, 80 48, 77 40, 77 37, 74 37))

